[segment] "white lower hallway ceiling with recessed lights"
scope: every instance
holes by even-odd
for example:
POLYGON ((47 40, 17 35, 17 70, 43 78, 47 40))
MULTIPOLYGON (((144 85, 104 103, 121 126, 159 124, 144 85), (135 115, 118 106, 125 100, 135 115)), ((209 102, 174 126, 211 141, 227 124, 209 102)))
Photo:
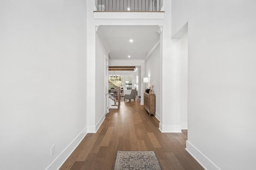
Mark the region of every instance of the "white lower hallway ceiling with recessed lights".
POLYGON ((112 60, 144 60, 159 41, 160 28, 158 25, 100 25, 97 33, 112 60))

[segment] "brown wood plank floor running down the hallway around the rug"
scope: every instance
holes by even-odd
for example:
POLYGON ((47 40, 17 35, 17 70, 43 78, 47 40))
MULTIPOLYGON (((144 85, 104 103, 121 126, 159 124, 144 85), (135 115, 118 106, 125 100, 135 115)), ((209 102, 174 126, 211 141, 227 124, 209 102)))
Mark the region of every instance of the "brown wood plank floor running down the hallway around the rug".
POLYGON ((162 170, 204 170, 185 150, 187 131, 161 133, 139 102, 110 109, 97 133, 88 133, 60 170, 113 170, 117 150, 153 150, 162 170))

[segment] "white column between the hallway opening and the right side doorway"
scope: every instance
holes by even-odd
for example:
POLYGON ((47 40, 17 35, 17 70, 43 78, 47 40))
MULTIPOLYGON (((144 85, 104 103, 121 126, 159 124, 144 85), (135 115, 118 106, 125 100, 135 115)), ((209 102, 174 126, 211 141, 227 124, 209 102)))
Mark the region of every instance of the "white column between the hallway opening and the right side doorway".
MULTIPOLYGON (((168 27, 162 27, 162 132, 181 132, 180 126, 180 62, 179 45, 170 38, 168 27)), ((160 113, 161 114, 161 113, 160 113)))

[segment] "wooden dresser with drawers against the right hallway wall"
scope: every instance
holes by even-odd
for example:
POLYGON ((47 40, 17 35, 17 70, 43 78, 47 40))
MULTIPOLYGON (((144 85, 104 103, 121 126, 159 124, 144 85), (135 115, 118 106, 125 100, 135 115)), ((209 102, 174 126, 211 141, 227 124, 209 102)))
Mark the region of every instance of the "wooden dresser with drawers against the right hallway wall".
POLYGON ((149 116, 152 114, 155 116, 156 112, 156 97, 155 94, 148 94, 144 92, 144 109, 149 113, 149 116))

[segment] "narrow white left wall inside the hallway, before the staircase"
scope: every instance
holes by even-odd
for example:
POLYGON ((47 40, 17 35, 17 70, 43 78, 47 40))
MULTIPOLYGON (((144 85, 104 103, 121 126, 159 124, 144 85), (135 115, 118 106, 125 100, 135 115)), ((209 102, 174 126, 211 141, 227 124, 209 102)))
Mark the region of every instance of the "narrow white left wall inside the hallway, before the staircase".
MULTIPOLYGON (((100 127, 102 121, 105 119, 105 56, 108 56, 108 51, 104 47, 98 33, 96 33, 96 64, 95 64, 95 130, 100 127), (102 88, 103 86, 103 88, 102 88)), ((92 70, 91 70, 92 71, 92 70)), ((88 84, 88 86, 90 86, 88 84)))

